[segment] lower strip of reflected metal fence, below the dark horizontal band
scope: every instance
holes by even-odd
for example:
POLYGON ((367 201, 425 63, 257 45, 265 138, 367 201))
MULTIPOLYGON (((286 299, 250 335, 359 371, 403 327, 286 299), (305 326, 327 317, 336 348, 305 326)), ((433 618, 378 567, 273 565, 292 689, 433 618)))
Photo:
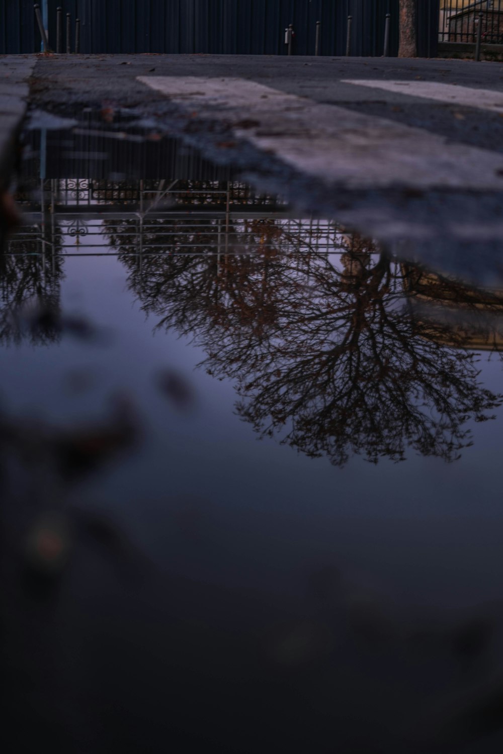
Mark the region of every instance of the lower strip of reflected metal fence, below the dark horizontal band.
POLYGON ((172 256, 173 254, 253 255, 275 253, 337 254, 348 251, 348 237, 329 220, 232 215, 141 219, 110 214, 106 219, 81 215, 57 217, 57 223, 22 228, 6 253, 51 259, 64 256, 172 256), (54 238, 57 231, 57 243, 54 238))

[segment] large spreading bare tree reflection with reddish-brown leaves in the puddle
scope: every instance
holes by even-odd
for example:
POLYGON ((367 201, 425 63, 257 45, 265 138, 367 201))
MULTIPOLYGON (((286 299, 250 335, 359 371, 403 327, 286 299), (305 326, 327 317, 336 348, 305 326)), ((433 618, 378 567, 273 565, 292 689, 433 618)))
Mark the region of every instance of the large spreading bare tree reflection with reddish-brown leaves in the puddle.
POLYGON ((141 275, 130 266, 130 286, 159 326, 192 333, 208 373, 235 380, 238 413, 262 436, 336 465, 407 448, 458 458, 468 419, 501 397, 478 382, 474 354, 441 342, 444 325, 411 316, 400 265, 360 239, 347 247, 155 256, 141 275))

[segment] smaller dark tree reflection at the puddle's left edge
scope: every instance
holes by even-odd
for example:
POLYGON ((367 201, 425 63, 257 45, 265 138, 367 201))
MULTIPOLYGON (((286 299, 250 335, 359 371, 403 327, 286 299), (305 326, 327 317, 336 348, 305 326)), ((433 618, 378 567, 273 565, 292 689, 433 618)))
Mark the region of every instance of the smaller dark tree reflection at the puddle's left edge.
MULTIPOLYGON (((23 229, 26 231, 26 229, 23 229)), ((54 235, 60 246, 60 233, 54 235)), ((0 343, 20 343, 23 336, 36 345, 57 340, 55 326, 60 311, 63 265, 59 251, 41 256, 35 234, 15 239, 16 253, 0 253, 0 343), (51 313, 46 316, 46 313, 51 313), (36 326, 24 326, 23 318, 36 317, 36 326)), ((8 247, 9 250, 9 247, 8 247)))

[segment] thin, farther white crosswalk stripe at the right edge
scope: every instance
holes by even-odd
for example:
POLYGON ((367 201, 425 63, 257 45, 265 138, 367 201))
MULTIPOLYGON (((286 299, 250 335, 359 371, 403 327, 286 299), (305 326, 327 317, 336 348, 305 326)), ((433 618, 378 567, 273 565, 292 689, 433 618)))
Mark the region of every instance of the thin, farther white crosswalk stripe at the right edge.
POLYGON ((503 113, 503 92, 490 89, 459 87, 437 81, 381 81, 379 79, 345 79, 342 84, 354 84, 369 89, 381 89, 394 94, 443 102, 447 105, 474 107, 503 113))

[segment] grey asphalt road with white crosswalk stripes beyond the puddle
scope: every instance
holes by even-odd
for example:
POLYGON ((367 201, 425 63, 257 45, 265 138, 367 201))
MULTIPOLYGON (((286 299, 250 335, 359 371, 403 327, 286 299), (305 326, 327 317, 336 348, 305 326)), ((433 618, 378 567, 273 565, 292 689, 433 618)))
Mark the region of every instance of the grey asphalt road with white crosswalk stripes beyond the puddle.
POLYGON ((297 207, 493 282, 503 66, 361 58, 40 57, 32 106, 130 109, 297 207))

